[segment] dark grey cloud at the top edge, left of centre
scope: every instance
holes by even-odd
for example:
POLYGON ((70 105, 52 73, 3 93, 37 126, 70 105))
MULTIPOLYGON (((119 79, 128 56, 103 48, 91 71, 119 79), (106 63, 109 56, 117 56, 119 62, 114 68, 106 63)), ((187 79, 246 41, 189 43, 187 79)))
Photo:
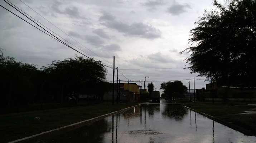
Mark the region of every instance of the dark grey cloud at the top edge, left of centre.
POLYGON ((54 1, 54 3, 51 6, 51 9, 54 12, 57 12, 59 14, 64 14, 67 15, 71 18, 81 18, 81 19, 86 19, 85 17, 81 16, 81 14, 78 11, 78 8, 76 6, 70 6, 66 7, 64 10, 60 9, 60 6, 62 5, 62 2, 59 1, 54 1))

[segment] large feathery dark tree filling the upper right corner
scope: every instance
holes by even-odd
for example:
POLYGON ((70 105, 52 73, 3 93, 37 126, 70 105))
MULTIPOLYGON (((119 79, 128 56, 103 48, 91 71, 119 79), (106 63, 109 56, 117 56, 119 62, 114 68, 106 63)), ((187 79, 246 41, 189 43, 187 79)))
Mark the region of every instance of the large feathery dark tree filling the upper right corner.
POLYGON ((256 1, 231 0, 227 6, 214 0, 215 10, 195 22, 186 62, 192 73, 212 77, 219 85, 255 86, 256 1))

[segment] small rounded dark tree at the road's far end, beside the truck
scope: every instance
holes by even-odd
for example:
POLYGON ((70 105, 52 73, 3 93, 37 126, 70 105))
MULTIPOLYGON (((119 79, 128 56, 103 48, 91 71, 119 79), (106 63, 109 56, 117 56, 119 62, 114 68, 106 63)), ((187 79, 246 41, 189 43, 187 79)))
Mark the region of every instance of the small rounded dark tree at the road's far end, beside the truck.
POLYGON ((163 89, 164 94, 169 96, 169 99, 182 97, 187 91, 187 86, 183 85, 181 81, 168 81, 161 83, 160 89, 163 89))

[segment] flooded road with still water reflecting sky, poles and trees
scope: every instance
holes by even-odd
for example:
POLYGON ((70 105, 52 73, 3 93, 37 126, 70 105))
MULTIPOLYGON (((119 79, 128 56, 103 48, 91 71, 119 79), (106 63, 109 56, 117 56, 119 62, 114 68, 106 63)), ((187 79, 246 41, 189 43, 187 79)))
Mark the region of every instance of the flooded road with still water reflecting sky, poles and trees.
POLYGON ((256 143, 182 105, 142 104, 36 143, 256 143))

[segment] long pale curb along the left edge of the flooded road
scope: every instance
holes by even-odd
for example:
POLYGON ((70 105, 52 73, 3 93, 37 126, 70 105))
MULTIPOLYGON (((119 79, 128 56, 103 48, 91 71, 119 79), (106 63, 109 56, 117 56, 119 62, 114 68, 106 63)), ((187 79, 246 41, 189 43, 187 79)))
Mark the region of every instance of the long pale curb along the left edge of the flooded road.
POLYGON ((80 121, 80 122, 77 122, 77 123, 73 123, 73 124, 70 124, 70 125, 67 125, 67 126, 59 127, 59 128, 56 128, 56 129, 51 129, 49 131, 45 131, 45 132, 38 133, 38 134, 34 134, 32 136, 29 136, 29 137, 24 137, 24 138, 16 139, 15 141, 10 141, 8 143, 16 143, 16 142, 25 141, 27 139, 32 139, 34 137, 42 136, 44 134, 52 133, 54 131, 60 131, 62 129, 66 129, 66 128, 69 128, 69 127, 78 128, 78 127, 80 127, 82 125, 86 125, 87 123, 91 123, 91 122, 95 122, 95 121, 101 120, 101 119, 103 119, 103 118, 105 118, 107 116, 110 116, 110 115, 113 115, 113 114, 116 114, 116 113, 120 113, 120 112, 126 111, 126 110, 128 110, 130 108, 133 108, 133 107, 136 107, 136 106, 140 106, 140 104, 134 105, 134 106, 131 106, 131 107, 127 107, 127 108, 121 109, 119 111, 114 111, 114 112, 111 112, 111 113, 107 113, 105 115, 101 115, 101 116, 94 117, 94 118, 91 118, 91 119, 83 120, 83 121, 80 121))

